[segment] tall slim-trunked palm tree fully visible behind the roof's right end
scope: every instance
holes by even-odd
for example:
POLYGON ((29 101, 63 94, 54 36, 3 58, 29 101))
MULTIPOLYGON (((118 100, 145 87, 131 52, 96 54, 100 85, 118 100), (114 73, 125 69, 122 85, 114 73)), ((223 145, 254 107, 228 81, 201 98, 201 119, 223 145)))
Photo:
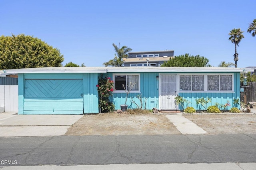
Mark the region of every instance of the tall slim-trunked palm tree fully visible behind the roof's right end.
POLYGON ((239 47, 238 43, 244 38, 244 35, 242 34, 243 31, 240 30, 240 28, 236 29, 234 28, 233 30, 230 31, 228 35, 230 35, 230 40, 232 43, 235 44, 235 54, 234 54, 234 61, 235 61, 235 67, 237 67, 237 61, 238 61, 238 53, 236 53, 236 45, 239 47))

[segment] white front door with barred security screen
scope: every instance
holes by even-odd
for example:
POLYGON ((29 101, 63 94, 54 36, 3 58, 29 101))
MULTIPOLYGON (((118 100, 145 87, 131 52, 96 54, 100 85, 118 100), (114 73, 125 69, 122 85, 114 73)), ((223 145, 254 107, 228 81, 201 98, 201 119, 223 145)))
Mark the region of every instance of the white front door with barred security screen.
POLYGON ((174 74, 160 74, 160 89, 159 89, 159 107, 160 110, 176 110, 175 103, 176 94, 176 81, 177 75, 174 74))

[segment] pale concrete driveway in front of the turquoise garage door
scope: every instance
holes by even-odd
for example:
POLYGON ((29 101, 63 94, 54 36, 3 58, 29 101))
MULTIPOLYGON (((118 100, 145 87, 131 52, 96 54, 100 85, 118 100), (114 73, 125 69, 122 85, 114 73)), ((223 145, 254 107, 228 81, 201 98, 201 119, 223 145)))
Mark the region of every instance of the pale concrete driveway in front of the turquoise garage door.
POLYGON ((0 137, 60 136, 83 115, 17 115, 0 113, 0 137))

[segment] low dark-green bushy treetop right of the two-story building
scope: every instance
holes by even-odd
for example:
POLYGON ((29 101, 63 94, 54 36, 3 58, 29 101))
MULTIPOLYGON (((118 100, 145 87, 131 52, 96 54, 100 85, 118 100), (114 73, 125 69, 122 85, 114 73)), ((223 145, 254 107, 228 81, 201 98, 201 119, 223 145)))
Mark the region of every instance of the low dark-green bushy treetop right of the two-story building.
POLYGON ((208 64, 209 59, 202 57, 200 55, 190 55, 186 53, 185 55, 179 55, 171 57, 168 61, 164 62, 162 67, 206 67, 210 66, 208 64))

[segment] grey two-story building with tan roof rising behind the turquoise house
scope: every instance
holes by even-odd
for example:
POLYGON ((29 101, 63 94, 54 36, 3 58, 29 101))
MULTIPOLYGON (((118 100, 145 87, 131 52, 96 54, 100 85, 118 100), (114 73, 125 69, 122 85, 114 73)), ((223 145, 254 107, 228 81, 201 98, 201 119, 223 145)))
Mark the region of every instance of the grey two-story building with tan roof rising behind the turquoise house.
POLYGON ((125 67, 160 67, 162 63, 174 57, 174 50, 164 51, 140 51, 128 53, 128 58, 124 59, 125 67))

